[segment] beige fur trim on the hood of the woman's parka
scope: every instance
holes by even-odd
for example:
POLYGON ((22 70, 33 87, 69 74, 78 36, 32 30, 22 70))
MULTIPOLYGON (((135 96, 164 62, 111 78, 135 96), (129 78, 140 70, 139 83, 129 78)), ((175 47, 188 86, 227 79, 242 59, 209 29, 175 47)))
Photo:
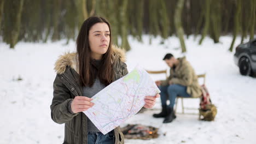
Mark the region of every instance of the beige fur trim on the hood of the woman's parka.
MULTIPOLYGON (((112 45, 112 50, 112 63, 115 63, 116 61, 121 61, 123 63, 126 62, 124 49, 120 49, 120 47, 112 45)), ((78 72, 77 63, 77 52, 67 52, 64 55, 61 55, 59 59, 57 59, 54 70, 57 74, 63 74, 66 70, 66 67, 69 66, 78 72)))

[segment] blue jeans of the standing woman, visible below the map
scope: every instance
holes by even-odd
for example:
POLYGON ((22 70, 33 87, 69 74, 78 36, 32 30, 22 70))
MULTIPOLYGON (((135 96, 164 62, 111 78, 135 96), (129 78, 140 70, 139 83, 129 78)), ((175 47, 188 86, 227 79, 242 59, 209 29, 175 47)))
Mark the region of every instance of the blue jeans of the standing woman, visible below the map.
POLYGON ((106 135, 101 132, 88 132, 88 144, 113 144, 115 143, 114 130, 109 131, 106 135))

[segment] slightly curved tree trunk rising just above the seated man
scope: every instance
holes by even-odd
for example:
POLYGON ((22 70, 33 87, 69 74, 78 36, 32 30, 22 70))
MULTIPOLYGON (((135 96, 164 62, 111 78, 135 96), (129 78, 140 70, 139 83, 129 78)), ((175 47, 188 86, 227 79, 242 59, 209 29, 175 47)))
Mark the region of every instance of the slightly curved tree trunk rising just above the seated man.
POLYGON ((184 42, 184 31, 183 31, 182 22, 181 22, 183 5, 184 5, 184 0, 178 0, 175 14, 174 14, 174 25, 179 38, 179 42, 181 43, 182 52, 186 52, 187 50, 184 42))

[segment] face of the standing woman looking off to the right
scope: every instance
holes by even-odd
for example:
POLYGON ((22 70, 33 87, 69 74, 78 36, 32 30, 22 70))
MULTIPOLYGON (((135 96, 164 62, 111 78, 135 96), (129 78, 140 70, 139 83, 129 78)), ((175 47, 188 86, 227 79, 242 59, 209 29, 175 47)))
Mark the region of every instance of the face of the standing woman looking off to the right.
POLYGON ((91 57, 101 59, 102 55, 107 52, 110 41, 110 32, 107 23, 95 23, 89 30, 89 45, 91 57))

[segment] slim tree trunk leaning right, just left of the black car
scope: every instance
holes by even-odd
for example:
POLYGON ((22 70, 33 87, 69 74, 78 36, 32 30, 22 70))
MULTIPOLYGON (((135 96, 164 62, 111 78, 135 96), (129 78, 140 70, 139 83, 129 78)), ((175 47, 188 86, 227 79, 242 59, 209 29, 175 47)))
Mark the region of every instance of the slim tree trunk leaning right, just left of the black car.
POLYGON ((234 43, 235 43, 235 40, 236 40, 236 35, 237 33, 239 32, 239 29, 240 29, 240 19, 241 19, 241 3, 242 3, 242 0, 237 0, 237 3, 236 3, 236 14, 235 14, 235 19, 234 19, 234 23, 235 23, 235 27, 233 29, 233 39, 232 39, 232 43, 230 45, 230 48, 229 48, 229 51, 232 51, 233 50, 233 46, 234 46, 234 43))

